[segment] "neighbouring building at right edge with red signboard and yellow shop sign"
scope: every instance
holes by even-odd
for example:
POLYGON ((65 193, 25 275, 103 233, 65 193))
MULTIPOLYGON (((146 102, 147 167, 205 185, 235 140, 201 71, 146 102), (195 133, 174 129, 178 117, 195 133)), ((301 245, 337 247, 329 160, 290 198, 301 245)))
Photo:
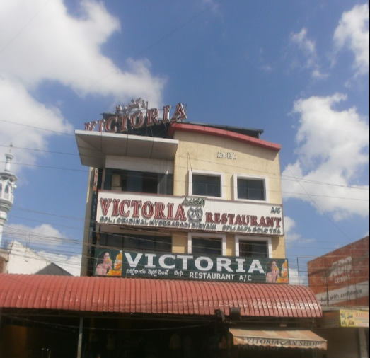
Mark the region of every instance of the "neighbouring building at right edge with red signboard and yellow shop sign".
POLYGON ((369 357, 369 236, 308 262, 328 358, 369 357))

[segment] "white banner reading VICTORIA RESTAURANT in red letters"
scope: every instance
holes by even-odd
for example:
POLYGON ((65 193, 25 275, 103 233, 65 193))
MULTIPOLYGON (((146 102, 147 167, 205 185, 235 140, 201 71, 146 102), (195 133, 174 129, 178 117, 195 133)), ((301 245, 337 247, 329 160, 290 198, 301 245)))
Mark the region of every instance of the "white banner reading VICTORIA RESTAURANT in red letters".
POLYGON ((283 236, 281 205, 100 191, 99 224, 283 236))

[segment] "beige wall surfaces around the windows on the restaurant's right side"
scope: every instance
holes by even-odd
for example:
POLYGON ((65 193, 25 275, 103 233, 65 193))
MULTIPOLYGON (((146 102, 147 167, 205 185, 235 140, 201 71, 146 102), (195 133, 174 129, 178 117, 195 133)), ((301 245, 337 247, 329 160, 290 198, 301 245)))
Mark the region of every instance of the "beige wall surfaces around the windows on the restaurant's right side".
MULTIPOLYGON (((204 134, 175 132, 179 141, 175 156, 174 195, 189 194, 190 171, 224 174, 224 200, 233 200, 234 174, 250 175, 267 180, 267 200, 282 204, 279 153, 253 144, 236 142, 204 134), (231 152, 236 159, 218 158, 219 152, 231 152)), ((174 240, 174 250, 182 252, 186 240, 174 240)), ((226 236, 226 255, 235 255, 235 236, 226 236)), ((286 258, 284 237, 272 238, 272 257, 286 258)))

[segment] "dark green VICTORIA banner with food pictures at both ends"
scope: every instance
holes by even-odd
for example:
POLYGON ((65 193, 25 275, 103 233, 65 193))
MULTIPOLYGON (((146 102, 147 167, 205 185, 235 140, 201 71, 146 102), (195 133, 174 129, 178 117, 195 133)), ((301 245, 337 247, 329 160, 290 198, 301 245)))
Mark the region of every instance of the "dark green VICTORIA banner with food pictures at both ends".
POLYGON ((98 250, 96 276, 289 284, 288 260, 98 250))

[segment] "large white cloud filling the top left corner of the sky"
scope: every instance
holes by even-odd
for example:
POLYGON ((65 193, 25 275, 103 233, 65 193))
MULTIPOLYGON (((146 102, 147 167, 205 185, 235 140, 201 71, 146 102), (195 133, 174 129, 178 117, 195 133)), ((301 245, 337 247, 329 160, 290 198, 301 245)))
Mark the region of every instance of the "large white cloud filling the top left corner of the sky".
MULTIPOLYGON (((26 23, 30 13, 45 1, 11 1, 7 11, 0 11, 0 43, 26 23)), ((12 74, 25 87, 42 81, 58 81, 80 94, 114 96, 129 100, 143 96, 158 105, 164 81, 151 76, 146 59, 127 62, 127 71, 105 57, 101 47, 115 32, 120 21, 110 15, 102 3, 81 1, 81 18, 67 13, 62 0, 53 0, 30 23, 0 57, 1 71, 12 74)))

